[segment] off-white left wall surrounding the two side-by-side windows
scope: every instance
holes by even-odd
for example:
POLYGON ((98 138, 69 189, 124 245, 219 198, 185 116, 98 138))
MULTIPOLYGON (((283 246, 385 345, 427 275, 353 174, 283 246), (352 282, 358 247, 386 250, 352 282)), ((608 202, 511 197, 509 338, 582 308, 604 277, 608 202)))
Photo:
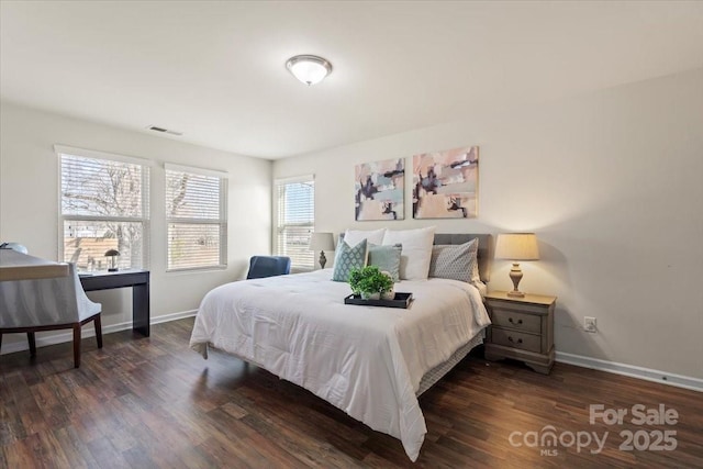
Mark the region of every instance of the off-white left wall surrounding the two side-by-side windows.
MULTIPOLYGON (((24 244, 30 254, 58 256, 58 158, 54 144, 154 160, 150 193, 152 319, 191 311, 210 289, 243 278, 248 258, 270 253, 271 163, 145 133, 51 114, 2 102, 0 114, 0 239, 24 244), (226 270, 166 272, 164 161, 228 172, 226 270)), ((130 322, 129 289, 90 292, 103 304, 102 322, 130 322)), ((89 327, 86 327, 89 328, 89 327)), ((37 340, 56 337, 43 333, 37 340)), ((20 335, 3 337, 3 350, 16 349, 20 335)), ((24 345, 23 345, 24 346, 24 345)))

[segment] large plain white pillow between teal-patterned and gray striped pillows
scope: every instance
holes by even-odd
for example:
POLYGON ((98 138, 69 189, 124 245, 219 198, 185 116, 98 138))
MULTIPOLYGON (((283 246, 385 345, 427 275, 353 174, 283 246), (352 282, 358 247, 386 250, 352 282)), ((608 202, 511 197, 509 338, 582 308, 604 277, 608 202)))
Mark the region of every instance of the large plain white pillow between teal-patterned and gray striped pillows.
POLYGON ((402 244, 400 255, 401 280, 426 280, 432 259, 432 243, 435 238, 435 226, 417 230, 388 230, 383 244, 402 244))

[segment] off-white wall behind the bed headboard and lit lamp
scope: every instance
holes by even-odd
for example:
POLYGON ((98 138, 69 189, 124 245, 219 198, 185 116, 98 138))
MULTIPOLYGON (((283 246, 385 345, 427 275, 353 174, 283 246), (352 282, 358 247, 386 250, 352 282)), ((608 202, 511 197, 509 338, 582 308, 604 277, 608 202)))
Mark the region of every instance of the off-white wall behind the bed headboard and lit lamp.
MULTIPOLYGON (((523 263, 521 290, 558 297, 558 351, 703 378, 703 69, 466 115, 278 160, 274 176, 315 174, 317 231, 534 231, 542 259, 523 263), (356 164, 412 168, 414 154, 465 145, 480 146, 478 219, 414 221, 406 175, 404 221, 354 222, 356 164)), ((496 261, 489 288, 512 288, 507 271, 496 261)))

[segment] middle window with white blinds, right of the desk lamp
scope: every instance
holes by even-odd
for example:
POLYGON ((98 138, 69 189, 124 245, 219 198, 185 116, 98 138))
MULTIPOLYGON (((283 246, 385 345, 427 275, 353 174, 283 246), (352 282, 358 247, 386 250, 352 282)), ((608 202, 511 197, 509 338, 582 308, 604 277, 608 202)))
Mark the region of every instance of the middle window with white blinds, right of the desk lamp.
POLYGON ((168 270, 226 266, 224 172, 166 165, 168 270))

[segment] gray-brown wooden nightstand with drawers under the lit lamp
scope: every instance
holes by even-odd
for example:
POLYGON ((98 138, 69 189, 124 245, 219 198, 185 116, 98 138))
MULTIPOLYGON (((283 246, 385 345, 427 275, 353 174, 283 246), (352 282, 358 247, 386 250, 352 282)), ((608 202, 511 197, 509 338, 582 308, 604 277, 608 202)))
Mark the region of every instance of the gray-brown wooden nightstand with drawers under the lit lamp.
POLYGON ((505 291, 488 293, 486 306, 493 324, 488 330, 486 359, 514 358, 548 375, 554 365, 556 302, 556 297, 525 294, 515 298, 505 291))

